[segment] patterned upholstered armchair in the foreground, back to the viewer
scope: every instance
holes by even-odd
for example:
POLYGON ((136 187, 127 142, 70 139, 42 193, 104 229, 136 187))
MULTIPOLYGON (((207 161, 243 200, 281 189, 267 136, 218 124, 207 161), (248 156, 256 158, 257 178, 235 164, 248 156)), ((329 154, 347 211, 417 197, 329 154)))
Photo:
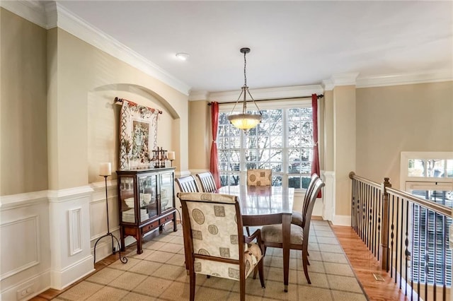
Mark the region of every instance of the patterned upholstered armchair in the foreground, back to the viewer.
POLYGON ((258 267, 265 288, 260 230, 250 237, 243 235, 237 196, 179 192, 178 198, 185 220, 184 244, 189 250, 190 300, 195 300, 195 274, 239 281, 243 301, 246 278, 258 267), (258 243, 252 242, 255 239, 258 243))

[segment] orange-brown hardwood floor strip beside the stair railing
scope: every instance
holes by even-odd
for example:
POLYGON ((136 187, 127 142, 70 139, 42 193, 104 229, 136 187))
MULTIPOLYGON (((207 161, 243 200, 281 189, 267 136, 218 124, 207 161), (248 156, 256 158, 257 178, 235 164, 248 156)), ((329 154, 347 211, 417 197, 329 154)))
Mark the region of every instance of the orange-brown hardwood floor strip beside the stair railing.
POLYGON ((352 228, 334 225, 331 227, 369 300, 408 300, 394 279, 381 270, 377 259, 352 228), (384 281, 377 281, 373 273, 380 274, 384 281))

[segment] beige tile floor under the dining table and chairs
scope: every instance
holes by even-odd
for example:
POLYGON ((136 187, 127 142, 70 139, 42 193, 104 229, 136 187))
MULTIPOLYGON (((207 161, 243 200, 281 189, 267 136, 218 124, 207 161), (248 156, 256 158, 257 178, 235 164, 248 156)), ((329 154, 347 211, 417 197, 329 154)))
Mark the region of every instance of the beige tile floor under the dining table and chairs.
MULTIPOLYGON (((119 260, 60 293, 53 300, 188 300, 183 231, 166 226, 161 235, 132 250, 127 264, 119 260)), ((328 222, 311 220, 309 274, 306 282, 302 255, 292 250, 289 291, 283 291, 282 250, 268 248, 264 264, 265 285, 248 277, 246 300, 367 300, 328 222)), ((131 250, 131 249, 129 249, 131 250)), ((239 282, 197 276, 195 300, 239 300, 239 282)))

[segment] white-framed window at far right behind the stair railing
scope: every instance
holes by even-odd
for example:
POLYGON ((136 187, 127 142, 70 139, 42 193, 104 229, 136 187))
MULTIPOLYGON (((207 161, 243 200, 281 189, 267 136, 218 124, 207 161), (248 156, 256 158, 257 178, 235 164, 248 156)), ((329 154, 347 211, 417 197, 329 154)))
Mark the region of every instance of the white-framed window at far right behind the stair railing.
MULTIPOLYGON (((452 177, 453 153, 401 153, 401 183, 415 196, 452 208, 452 177)), ((411 279, 415 283, 452 284, 450 225, 450 217, 411 206, 411 279)))

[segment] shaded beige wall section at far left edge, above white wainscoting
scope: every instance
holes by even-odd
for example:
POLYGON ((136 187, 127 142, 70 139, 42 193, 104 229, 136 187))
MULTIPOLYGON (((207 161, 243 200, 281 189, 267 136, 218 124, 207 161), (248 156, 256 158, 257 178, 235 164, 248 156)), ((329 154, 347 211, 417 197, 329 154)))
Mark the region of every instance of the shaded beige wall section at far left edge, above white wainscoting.
POLYGON ((0 195, 47 189, 46 30, 0 9, 0 195))

